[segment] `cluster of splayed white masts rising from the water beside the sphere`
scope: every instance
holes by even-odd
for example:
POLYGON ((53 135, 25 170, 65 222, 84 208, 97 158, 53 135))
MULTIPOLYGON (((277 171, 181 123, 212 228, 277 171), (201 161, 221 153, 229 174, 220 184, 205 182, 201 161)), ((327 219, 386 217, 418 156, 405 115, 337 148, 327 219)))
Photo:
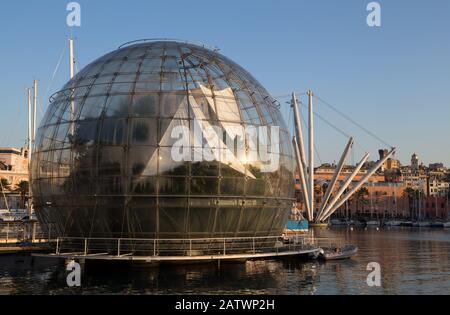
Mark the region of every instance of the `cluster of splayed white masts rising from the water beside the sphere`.
POLYGON ((294 152, 297 161, 297 167, 299 169, 299 177, 300 177, 300 185, 301 191, 303 194, 303 199, 305 202, 306 213, 308 215, 308 220, 310 222, 314 222, 316 224, 321 224, 322 222, 326 222, 331 215, 333 215, 342 205, 344 205, 350 197, 357 192, 369 179, 375 174, 378 169, 395 153, 395 148, 391 148, 391 151, 388 152, 380 161, 376 163, 374 167, 368 170, 363 178, 359 180, 357 183, 353 183, 355 177, 359 174, 364 164, 369 159, 369 153, 366 153, 361 161, 358 163, 353 172, 348 176, 343 184, 340 185, 339 190, 333 196, 335 188, 338 185, 338 179, 342 175, 342 170, 344 168, 345 161, 347 156, 353 147, 354 138, 350 138, 344 152, 342 153, 341 159, 339 160, 338 165, 336 166, 336 170, 333 174, 333 177, 328 184, 327 191, 323 197, 323 200, 318 207, 317 216, 314 216, 314 108, 313 108, 313 97, 314 94, 312 91, 308 91, 307 93, 309 104, 309 122, 308 122, 308 161, 306 161, 306 154, 304 150, 303 143, 303 133, 302 133, 302 124, 300 119, 300 111, 298 108, 297 98, 295 93, 292 94, 292 107, 294 110, 294 119, 295 119, 295 137, 293 139, 294 152), (308 165, 307 165, 308 162, 308 165), (352 186, 350 189, 349 187, 352 186))

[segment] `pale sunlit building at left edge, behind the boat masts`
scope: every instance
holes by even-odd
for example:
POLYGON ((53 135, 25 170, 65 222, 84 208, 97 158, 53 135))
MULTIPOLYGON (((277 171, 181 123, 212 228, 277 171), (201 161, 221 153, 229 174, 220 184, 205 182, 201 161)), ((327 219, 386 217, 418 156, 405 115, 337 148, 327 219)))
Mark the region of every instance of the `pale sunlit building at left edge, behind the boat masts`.
POLYGON ((21 181, 28 181, 28 151, 0 148, 0 178, 8 181, 11 190, 21 181))

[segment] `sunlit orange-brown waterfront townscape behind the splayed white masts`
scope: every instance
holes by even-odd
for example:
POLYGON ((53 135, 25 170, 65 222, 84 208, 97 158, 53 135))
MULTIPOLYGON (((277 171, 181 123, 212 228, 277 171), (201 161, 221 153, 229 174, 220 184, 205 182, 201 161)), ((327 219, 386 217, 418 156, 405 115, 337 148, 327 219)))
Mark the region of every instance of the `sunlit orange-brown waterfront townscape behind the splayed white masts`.
MULTIPOLYGON (((380 150, 380 158, 387 152, 380 150)), ((367 162, 355 177, 355 185, 372 168, 376 162, 367 162)), ((431 164, 429 168, 419 162, 417 154, 411 157, 411 166, 401 166, 400 162, 391 159, 375 173, 361 190, 355 194, 335 213, 335 217, 353 218, 413 218, 426 214, 429 218, 444 218, 448 207, 449 172, 442 163, 431 164), (420 200, 420 205, 419 205, 420 200)), ((355 169, 345 166, 338 178, 338 184, 333 193, 355 169)), ((335 164, 323 164, 315 170, 316 206, 321 204, 326 191, 326 184, 333 178, 335 164)), ((351 186, 350 186, 351 187, 351 186)), ((296 195, 299 208, 303 209, 302 193, 297 176, 296 195)), ((317 209, 316 209, 317 210, 317 209)))

